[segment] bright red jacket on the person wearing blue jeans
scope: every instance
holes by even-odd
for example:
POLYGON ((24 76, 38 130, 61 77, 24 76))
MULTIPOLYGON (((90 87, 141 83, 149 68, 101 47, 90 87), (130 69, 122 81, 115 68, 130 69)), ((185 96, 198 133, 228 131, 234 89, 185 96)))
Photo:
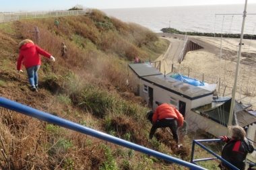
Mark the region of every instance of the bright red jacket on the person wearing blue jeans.
POLYGON ((47 58, 51 57, 51 54, 34 45, 32 42, 28 42, 21 46, 20 56, 17 62, 17 70, 20 71, 22 69, 22 62, 24 62, 26 69, 32 66, 41 65, 39 54, 46 56, 47 58))

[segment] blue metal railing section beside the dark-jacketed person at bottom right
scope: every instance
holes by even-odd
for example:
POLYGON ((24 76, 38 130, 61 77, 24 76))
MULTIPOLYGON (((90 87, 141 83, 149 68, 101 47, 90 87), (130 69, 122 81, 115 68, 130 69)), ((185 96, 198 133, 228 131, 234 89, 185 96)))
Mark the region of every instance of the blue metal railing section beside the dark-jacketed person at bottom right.
MULTIPOLYGON (((203 144, 200 143, 200 142, 218 142, 218 141, 222 141, 222 139, 218 138, 218 139, 193 140, 192 151, 191 151, 191 163, 194 163, 195 165, 197 165, 196 162, 199 162, 199 161, 210 161, 210 160, 213 160, 213 159, 220 159, 226 165, 229 165, 230 167, 232 167, 232 169, 239 170, 237 167, 235 167, 234 165, 230 164, 225 159, 222 159, 222 157, 220 157, 219 155, 217 155, 216 153, 211 151, 209 148, 206 148, 205 146, 203 146, 203 144), (205 151, 207 151, 208 153, 211 153, 215 157, 213 157, 213 158, 205 158, 205 159, 195 159, 194 160, 195 144, 197 144, 198 146, 201 146, 201 148, 204 148, 205 151)), ((193 169, 191 169, 191 170, 193 170, 193 169)))

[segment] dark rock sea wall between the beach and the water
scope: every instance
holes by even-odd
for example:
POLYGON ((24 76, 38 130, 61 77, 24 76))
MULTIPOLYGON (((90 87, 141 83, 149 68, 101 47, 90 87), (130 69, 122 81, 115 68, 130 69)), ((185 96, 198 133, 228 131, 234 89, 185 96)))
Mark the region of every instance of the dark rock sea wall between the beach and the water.
MULTIPOLYGON (((162 28, 162 32, 164 33, 175 33, 175 34, 183 34, 185 35, 186 32, 181 32, 174 28, 162 28)), ((223 38, 240 38, 241 34, 219 34, 219 33, 205 33, 205 32, 187 32, 188 36, 210 36, 210 37, 223 37, 223 38)), ((244 34, 244 39, 251 39, 256 40, 256 35, 244 34)))

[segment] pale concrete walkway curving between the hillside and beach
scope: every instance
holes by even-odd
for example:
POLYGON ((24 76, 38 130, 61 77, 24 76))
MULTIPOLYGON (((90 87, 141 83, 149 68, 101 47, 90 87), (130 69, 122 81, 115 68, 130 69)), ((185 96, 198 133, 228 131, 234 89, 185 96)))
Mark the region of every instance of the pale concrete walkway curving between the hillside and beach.
MULTIPOLYGON (((164 37, 160 37, 164 38, 164 37)), ((160 55, 154 62, 161 61, 161 67, 160 72, 164 74, 164 71, 166 71, 166 74, 170 73, 172 71, 172 64, 179 65, 179 56, 181 54, 181 51, 183 50, 184 46, 184 40, 181 40, 179 38, 164 38, 168 41, 170 41, 170 46, 167 48, 166 52, 162 55, 160 55)))

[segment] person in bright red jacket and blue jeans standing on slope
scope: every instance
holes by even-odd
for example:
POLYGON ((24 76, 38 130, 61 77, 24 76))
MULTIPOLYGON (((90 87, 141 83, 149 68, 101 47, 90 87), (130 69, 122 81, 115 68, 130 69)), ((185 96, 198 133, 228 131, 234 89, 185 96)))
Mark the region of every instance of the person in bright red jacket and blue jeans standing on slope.
POLYGON ((38 89, 38 75, 37 71, 41 65, 41 59, 39 54, 47 58, 51 58, 53 62, 55 58, 48 52, 42 50, 39 46, 34 45, 32 40, 26 39, 22 40, 19 44, 20 56, 17 62, 17 71, 18 73, 22 72, 22 62, 28 73, 28 81, 30 82, 32 91, 37 91, 38 89))

